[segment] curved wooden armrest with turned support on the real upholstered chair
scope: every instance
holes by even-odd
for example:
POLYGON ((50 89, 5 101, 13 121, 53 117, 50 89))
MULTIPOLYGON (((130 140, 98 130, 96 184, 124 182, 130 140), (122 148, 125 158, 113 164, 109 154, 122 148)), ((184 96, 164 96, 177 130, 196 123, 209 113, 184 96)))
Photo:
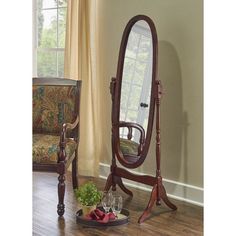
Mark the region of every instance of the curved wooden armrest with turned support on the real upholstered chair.
POLYGON ((60 142, 59 142, 59 153, 58 153, 58 162, 65 161, 66 158, 66 152, 65 152, 65 147, 66 147, 66 132, 67 130, 72 130, 77 127, 79 124, 79 116, 76 117, 76 120, 74 123, 64 123, 62 125, 62 131, 60 135, 60 142))

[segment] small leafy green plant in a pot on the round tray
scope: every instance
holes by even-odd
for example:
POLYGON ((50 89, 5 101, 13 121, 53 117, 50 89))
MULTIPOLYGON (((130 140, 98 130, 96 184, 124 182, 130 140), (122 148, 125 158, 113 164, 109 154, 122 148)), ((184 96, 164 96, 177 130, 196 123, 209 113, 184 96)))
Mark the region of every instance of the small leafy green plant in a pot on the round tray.
POLYGON ((76 199, 82 205, 84 215, 87 215, 92 210, 96 209, 97 204, 102 199, 102 192, 97 189, 96 185, 92 181, 81 185, 74 191, 76 199))

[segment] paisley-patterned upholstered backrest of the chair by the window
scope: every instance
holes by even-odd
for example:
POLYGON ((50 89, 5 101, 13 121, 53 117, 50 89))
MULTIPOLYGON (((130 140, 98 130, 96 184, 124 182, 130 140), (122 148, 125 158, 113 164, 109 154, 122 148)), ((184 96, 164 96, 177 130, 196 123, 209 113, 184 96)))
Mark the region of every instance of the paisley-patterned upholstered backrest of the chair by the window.
POLYGON ((75 120, 74 86, 33 86, 33 132, 60 134, 63 123, 75 120))

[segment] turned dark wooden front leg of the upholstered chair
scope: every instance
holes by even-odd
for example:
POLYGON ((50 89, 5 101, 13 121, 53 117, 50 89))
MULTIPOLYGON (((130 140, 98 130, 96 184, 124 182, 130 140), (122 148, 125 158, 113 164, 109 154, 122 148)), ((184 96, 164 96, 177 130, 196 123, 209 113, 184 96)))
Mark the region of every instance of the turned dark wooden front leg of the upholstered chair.
POLYGON ((63 162, 58 164, 58 205, 57 213, 63 216, 65 212, 64 196, 65 196, 65 164, 63 162))

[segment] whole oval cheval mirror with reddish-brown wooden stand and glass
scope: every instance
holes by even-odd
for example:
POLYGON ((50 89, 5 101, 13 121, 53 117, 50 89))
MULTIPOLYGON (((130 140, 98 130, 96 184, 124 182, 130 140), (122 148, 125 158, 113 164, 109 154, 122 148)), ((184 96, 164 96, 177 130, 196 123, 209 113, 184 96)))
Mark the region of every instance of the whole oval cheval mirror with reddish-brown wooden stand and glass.
POLYGON ((154 203, 173 210, 162 184, 160 172, 160 99, 162 88, 157 76, 158 40, 153 21, 145 15, 133 17, 124 30, 116 78, 112 78, 112 164, 104 191, 116 185, 128 195, 122 178, 152 186, 150 200, 138 222, 149 215, 154 203), (135 175, 127 169, 143 164, 150 146, 156 106, 156 176, 135 175), (126 168, 117 166, 120 164, 126 168))

